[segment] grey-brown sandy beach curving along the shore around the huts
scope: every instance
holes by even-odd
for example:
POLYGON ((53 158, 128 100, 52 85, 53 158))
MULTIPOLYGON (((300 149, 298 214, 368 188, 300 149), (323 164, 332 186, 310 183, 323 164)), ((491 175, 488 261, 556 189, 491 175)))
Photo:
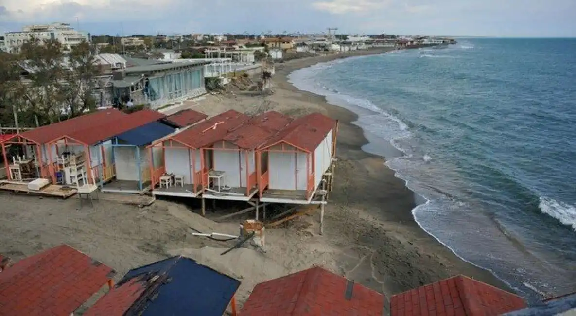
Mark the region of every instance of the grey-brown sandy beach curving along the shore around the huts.
POLYGON ((136 266, 184 254, 237 277, 242 282, 240 303, 255 284, 312 265, 383 292, 386 298, 459 274, 506 288, 490 272, 460 260, 420 229, 411 214, 416 206, 414 193, 384 165, 384 158, 361 150, 367 140, 352 124, 357 119, 354 113, 328 104, 324 97, 297 90, 286 79, 298 68, 378 52, 290 60, 276 65, 271 94, 229 89, 190 102, 191 108, 207 115, 230 108, 247 113, 274 109, 291 116, 317 111, 338 119, 339 161, 324 235, 319 235, 319 212, 313 212, 267 230, 266 253, 243 248, 220 255, 233 243, 195 237, 188 227, 203 233, 237 234, 238 224, 253 214, 222 223, 211 219, 248 205, 219 202, 202 218, 198 200, 157 200, 144 208, 100 200, 94 207, 80 208, 75 197, 59 200, 0 193, 0 253, 20 259, 69 243, 112 266, 119 276, 136 266))

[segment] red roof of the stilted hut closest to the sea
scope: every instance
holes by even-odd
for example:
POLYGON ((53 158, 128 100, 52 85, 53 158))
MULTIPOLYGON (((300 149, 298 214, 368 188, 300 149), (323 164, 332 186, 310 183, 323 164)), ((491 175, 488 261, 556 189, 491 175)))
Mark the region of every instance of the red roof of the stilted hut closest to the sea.
POLYGON ((336 120, 320 113, 312 113, 291 121, 274 138, 262 147, 269 147, 279 142, 291 144, 300 149, 312 152, 323 142, 328 132, 334 130, 336 120))

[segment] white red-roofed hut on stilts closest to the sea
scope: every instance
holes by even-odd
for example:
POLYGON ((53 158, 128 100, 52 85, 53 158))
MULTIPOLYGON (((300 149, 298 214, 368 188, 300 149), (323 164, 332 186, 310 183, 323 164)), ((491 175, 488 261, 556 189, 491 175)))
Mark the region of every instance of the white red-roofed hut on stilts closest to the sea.
POLYGON ((291 121, 257 149, 260 201, 323 204, 314 193, 336 154, 338 121, 312 113, 291 121))

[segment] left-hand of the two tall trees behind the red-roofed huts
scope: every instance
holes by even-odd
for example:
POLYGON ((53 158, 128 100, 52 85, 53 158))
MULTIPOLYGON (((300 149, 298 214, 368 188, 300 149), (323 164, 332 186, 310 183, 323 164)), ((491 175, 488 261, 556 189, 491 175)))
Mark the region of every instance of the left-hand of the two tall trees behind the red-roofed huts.
POLYGON ((50 123, 60 119, 62 108, 61 81, 64 53, 58 40, 32 38, 20 48, 20 64, 28 72, 29 83, 22 87, 22 96, 32 111, 46 113, 50 123))

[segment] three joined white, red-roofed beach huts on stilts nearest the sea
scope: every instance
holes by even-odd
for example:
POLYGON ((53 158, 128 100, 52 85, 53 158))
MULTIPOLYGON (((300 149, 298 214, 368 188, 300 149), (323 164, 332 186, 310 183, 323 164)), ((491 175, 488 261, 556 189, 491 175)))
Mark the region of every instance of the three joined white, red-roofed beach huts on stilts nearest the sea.
POLYGON ((153 195, 310 204, 332 166, 338 122, 230 110, 147 146, 153 195))

